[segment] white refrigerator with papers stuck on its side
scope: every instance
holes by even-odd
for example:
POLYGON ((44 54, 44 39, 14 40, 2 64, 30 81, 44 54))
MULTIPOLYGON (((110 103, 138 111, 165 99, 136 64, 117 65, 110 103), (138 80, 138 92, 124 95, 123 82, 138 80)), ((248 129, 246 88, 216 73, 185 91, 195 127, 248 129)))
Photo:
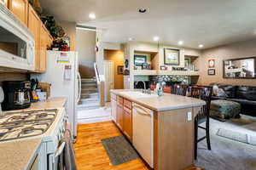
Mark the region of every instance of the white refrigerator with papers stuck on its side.
POLYGON ((77 105, 81 94, 78 52, 47 51, 47 69, 36 76, 39 82, 51 84, 50 98, 66 97, 68 123, 77 136, 77 105))

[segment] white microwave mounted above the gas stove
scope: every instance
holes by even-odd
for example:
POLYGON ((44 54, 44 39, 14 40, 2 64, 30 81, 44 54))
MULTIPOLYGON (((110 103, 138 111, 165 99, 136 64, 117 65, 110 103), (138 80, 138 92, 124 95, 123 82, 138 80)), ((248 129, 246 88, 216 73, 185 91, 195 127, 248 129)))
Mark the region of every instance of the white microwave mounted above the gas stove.
POLYGON ((0 3, 0 67, 32 71, 34 56, 32 32, 0 3))

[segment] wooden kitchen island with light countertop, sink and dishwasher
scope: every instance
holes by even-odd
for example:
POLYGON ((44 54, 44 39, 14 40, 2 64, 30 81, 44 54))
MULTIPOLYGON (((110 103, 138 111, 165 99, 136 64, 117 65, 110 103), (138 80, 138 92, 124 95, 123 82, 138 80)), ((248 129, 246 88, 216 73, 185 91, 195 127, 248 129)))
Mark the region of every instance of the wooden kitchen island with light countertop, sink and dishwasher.
POLYGON ((202 105, 201 99, 174 94, 111 90, 113 122, 157 170, 194 164, 194 120, 202 105))

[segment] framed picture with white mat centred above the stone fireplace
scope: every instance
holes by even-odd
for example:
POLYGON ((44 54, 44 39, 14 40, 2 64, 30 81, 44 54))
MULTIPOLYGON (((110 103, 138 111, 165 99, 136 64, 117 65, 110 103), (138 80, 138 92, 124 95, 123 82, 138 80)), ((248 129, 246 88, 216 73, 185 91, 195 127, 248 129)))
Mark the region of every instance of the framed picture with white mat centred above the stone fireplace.
POLYGON ((179 49, 164 48, 165 65, 179 65, 179 49))

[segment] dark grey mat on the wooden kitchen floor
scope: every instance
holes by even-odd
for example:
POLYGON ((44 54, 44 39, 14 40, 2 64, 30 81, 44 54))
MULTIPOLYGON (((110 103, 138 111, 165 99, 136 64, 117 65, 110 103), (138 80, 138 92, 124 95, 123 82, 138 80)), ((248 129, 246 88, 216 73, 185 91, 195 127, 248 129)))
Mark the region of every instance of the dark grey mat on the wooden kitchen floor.
POLYGON ((115 166, 139 157, 136 150, 123 136, 102 139, 102 144, 105 150, 107 150, 110 161, 115 166))

